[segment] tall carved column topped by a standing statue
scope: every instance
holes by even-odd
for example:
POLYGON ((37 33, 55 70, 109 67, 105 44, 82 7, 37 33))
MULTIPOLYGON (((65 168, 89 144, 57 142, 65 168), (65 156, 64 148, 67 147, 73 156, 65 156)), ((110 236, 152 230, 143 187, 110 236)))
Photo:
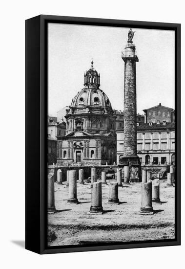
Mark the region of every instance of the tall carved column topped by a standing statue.
POLYGON ((137 156, 136 130, 136 62, 139 59, 136 55, 136 47, 131 41, 133 36, 132 30, 129 31, 128 42, 122 52, 124 61, 124 149, 120 164, 132 167, 130 171, 133 171, 133 177, 141 179, 141 163, 137 156), (129 35, 132 35, 132 37, 130 38, 129 35))

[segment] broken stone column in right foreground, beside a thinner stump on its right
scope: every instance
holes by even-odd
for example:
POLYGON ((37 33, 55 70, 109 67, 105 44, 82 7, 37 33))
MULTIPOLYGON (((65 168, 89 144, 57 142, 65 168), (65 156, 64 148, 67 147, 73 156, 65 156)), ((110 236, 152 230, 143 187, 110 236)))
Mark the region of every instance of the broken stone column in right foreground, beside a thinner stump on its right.
POLYGON ((152 207, 152 182, 142 183, 141 186, 141 210, 140 214, 153 214, 152 207))

